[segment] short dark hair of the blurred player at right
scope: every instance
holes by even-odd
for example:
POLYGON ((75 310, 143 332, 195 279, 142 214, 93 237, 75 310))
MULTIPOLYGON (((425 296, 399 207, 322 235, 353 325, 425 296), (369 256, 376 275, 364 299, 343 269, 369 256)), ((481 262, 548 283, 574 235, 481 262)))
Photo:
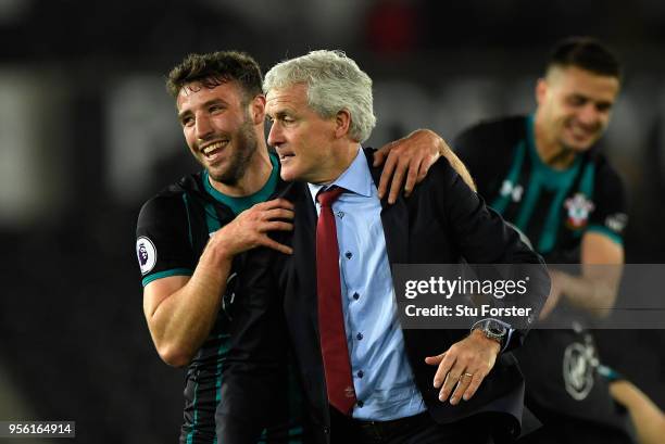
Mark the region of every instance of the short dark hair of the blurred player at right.
POLYGON ((545 74, 554 66, 576 66, 593 74, 622 79, 618 59, 593 37, 569 37, 561 40, 550 53, 545 74))

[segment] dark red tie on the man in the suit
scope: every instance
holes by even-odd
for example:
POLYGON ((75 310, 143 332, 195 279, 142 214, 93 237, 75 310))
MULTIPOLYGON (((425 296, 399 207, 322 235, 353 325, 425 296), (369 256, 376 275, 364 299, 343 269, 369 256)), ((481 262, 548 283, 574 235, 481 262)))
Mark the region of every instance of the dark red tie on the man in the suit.
POLYGON ((328 402, 342 414, 350 415, 356 398, 341 307, 339 246, 331 207, 332 202, 342 192, 344 189, 335 188, 319 192, 316 196, 321 204, 316 225, 316 290, 321 351, 326 372, 328 402))

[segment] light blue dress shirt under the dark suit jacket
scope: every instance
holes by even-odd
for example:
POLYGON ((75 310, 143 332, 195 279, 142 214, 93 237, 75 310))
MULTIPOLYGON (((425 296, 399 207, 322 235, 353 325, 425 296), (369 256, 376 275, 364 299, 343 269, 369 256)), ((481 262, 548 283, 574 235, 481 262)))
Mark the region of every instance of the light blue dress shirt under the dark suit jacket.
POLYGON ((361 149, 332 183, 309 183, 316 212, 322 188, 341 187, 332 203, 347 342, 357 403, 353 418, 387 421, 426 410, 406 358, 399 325, 390 263, 381 225, 381 204, 361 149))

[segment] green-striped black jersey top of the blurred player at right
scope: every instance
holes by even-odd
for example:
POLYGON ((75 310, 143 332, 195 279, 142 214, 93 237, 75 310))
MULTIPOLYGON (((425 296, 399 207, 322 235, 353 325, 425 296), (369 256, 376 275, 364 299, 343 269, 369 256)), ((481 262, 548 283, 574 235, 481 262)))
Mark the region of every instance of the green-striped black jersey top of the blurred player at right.
POLYGON ((579 263, 582 233, 623 243, 624 187, 598 147, 564 170, 536 151, 532 116, 481 123, 453 144, 480 195, 529 238, 551 264, 579 263))

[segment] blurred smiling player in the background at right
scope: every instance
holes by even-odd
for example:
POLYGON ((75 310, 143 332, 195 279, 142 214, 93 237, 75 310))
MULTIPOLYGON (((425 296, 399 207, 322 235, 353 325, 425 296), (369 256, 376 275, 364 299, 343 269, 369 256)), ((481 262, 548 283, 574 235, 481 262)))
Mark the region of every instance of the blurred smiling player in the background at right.
MULTIPOLYGON (((453 143, 478 192, 549 264, 581 264, 579 275, 551 271, 541 319, 562 305, 607 315, 616 300, 626 203, 599 140, 620 83, 619 62, 600 42, 561 41, 538 80, 535 114, 481 123, 453 143)), ((577 319, 567 325, 536 329, 515 352, 526 404, 544 424, 524 442, 632 443, 628 417, 598 372, 591 333, 577 319)))

